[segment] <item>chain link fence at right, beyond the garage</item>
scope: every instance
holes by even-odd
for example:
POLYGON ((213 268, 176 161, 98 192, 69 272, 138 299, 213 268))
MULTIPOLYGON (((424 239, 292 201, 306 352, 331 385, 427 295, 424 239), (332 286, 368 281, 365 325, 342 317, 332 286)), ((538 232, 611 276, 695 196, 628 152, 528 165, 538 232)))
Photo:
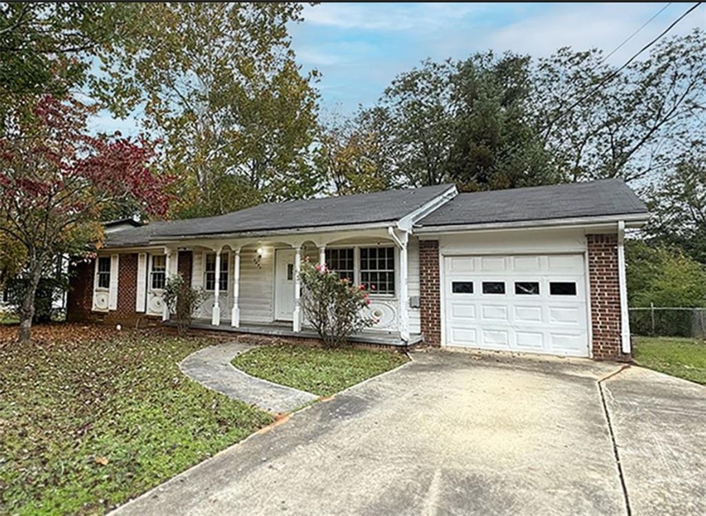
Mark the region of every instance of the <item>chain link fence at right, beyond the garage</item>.
POLYGON ((630 333, 706 339, 706 308, 630 308, 630 333))

